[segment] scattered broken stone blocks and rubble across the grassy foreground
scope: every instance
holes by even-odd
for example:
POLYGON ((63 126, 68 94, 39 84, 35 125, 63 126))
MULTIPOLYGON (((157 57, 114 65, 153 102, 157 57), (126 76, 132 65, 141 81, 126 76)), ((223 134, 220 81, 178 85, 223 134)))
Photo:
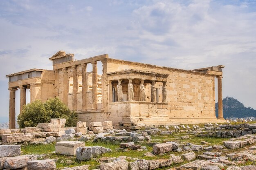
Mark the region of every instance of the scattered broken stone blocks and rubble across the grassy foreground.
MULTIPOLYGON (((127 132, 125 129, 114 129, 115 126, 112 126, 111 121, 93 122, 89 127, 86 127, 83 122, 78 122, 76 128, 64 128, 64 122, 62 119, 54 119, 49 124, 39 124, 37 128, 0 130, 2 139, 2 145, 0 145, 0 170, 53 170, 56 168, 56 163, 53 159, 37 160, 39 155, 21 155, 21 146, 15 144, 24 145, 25 142, 29 144, 54 143, 56 154, 75 155, 74 157, 81 161, 97 159, 101 163, 97 170, 154 170, 173 164, 177 167, 169 170, 222 170, 222 168, 225 170, 256 170, 254 165, 240 166, 247 161, 256 161, 256 146, 253 146, 256 144, 256 135, 247 133, 235 138, 230 138, 232 135, 229 135, 230 139, 224 141, 222 146, 211 145, 206 141, 202 141, 201 145, 179 141, 180 139, 189 139, 189 136, 180 137, 177 141, 164 140, 164 143, 153 143, 151 135, 168 135, 173 131, 169 130, 167 133, 165 132, 166 130, 159 130, 158 128, 146 128, 127 132), (56 132, 58 135, 56 135, 56 132), (61 135, 59 135, 60 133, 61 135), (152 157, 152 159, 135 159, 125 156, 117 158, 101 157, 103 153, 112 152, 112 150, 102 146, 86 146, 87 142, 119 144, 119 148, 116 150, 123 152, 147 150, 145 146, 141 146, 141 144, 147 144, 153 146, 153 149, 144 153, 144 156, 147 158, 152 157), (241 150, 238 152, 236 149, 241 150), (227 151, 231 153, 227 154, 227 151), (155 159, 157 155, 169 155, 169 157, 155 159)), ((254 124, 247 126, 221 125, 219 128, 214 129, 223 131, 225 128, 225 133, 223 134, 226 134, 226 131, 238 131, 242 130, 241 128, 243 130, 248 128, 254 133, 254 127, 256 128, 254 124)), ((216 132, 213 131, 214 129, 206 131, 214 133, 216 132)), ((188 134, 202 135, 201 130, 191 131, 188 134)), ((226 138, 223 135, 221 137, 226 138)), ((90 165, 83 165, 64 169, 88 170, 89 167, 90 165)))

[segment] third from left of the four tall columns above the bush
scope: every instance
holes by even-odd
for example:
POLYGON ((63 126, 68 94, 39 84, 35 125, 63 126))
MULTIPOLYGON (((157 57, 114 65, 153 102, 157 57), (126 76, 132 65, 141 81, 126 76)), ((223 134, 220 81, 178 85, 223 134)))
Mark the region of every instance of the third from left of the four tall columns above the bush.
POLYGON ((82 109, 83 110, 87 110, 86 104, 87 104, 87 100, 86 100, 86 92, 87 92, 87 77, 86 77, 86 68, 87 68, 87 64, 83 63, 81 64, 82 66, 82 109))

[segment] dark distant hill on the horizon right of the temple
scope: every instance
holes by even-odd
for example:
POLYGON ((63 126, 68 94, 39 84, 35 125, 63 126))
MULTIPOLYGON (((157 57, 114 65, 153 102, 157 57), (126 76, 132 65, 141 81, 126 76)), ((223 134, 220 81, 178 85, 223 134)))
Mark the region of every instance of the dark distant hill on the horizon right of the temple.
MULTIPOLYGON (((223 103, 223 117, 256 117, 256 110, 239 102, 233 97, 226 97, 222 100, 223 103)), ((218 103, 215 104, 216 116, 218 116, 218 103)))

